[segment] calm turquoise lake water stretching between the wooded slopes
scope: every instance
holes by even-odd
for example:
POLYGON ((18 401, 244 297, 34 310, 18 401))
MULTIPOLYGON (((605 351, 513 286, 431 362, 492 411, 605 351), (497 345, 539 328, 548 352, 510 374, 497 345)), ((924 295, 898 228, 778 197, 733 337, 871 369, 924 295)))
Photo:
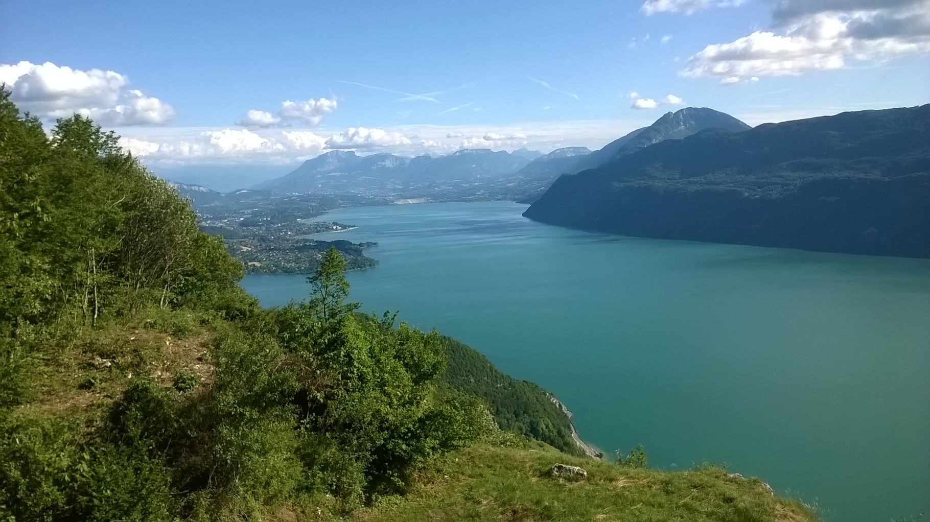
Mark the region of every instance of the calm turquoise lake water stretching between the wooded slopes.
MULTIPOLYGON (((930 515, 930 260, 591 234, 511 202, 340 209, 364 311, 478 349, 611 452, 707 461, 828 521, 930 515)), ((248 276, 262 305, 305 276, 248 276)))

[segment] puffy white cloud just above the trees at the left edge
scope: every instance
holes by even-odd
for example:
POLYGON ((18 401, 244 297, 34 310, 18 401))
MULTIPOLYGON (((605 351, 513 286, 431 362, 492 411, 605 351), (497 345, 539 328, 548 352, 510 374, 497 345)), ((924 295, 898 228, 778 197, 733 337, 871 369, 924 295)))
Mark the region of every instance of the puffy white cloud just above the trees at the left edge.
POLYGON ((23 111, 44 118, 82 114, 107 125, 166 124, 175 116, 164 101, 138 89, 119 72, 81 71, 50 61, 0 64, 0 83, 23 111))

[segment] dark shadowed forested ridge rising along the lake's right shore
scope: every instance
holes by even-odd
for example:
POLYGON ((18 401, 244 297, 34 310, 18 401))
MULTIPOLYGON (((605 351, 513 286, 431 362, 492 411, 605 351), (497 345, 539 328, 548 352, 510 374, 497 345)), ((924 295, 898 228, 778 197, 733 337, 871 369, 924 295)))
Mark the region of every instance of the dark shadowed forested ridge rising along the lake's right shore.
POLYGON ((930 257, 930 105, 709 130, 560 177, 525 216, 572 228, 930 257))

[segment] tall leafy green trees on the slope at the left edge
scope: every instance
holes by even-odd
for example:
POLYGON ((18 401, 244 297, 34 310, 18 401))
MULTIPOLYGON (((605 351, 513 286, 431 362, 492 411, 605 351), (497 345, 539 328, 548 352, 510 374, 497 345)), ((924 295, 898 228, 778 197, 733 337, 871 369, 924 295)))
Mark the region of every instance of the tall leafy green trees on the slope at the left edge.
POLYGON ((77 114, 46 137, 0 89, 0 330, 210 304, 242 277, 188 202, 117 139, 77 114))

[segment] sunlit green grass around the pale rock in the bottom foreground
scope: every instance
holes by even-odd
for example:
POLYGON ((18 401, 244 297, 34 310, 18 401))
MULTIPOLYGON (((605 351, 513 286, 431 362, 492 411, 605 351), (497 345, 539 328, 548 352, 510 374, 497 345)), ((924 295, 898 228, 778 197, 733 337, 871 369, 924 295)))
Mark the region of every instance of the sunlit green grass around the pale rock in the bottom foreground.
POLYGON ((719 467, 633 469, 571 457, 537 443, 458 451, 423 472, 405 497, 381 499, 350 519, 800 522, 817 516, 800 502, 773 496, 762 481, 729 476, 719 467), (575 482, 552 478, 547 471, 554 463, 579 465, 588 477, 575 482))

